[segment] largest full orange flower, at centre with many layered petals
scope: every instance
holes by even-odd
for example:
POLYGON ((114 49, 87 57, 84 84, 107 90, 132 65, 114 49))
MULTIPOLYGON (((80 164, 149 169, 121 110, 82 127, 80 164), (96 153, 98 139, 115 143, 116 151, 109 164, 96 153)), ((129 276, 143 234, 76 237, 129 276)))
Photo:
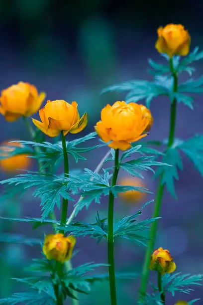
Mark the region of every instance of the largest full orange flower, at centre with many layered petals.
POLYGON ((126 151, 132 142, 147 136, 143 132, 148 124, 140 105, 117 101, 102 109, 101 121, 96 124, 95 129, 104 142, 112 141, 108 144, 110 148, 126 151))

